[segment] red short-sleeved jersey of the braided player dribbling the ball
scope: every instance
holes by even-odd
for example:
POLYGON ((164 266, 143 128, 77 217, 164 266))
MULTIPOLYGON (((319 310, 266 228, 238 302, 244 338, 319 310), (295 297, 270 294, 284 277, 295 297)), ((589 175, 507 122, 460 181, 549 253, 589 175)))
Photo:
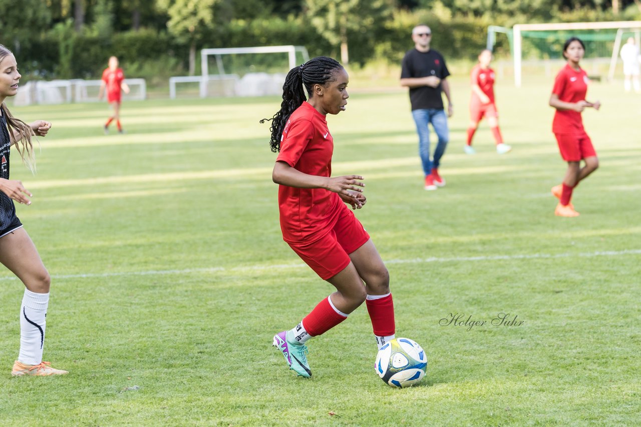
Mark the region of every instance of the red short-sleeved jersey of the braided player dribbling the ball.
MULTIPOLYGON (((326 117, 303 102, 285 124, 276 161, 308 175, 330 177, 333 152, 326 117)), ((278 207, 283 240, 288 243, 322 238, 336 224, 340 209, 345 209, 338 194, 328 189, 283 185, 278 188, 278 207)))

